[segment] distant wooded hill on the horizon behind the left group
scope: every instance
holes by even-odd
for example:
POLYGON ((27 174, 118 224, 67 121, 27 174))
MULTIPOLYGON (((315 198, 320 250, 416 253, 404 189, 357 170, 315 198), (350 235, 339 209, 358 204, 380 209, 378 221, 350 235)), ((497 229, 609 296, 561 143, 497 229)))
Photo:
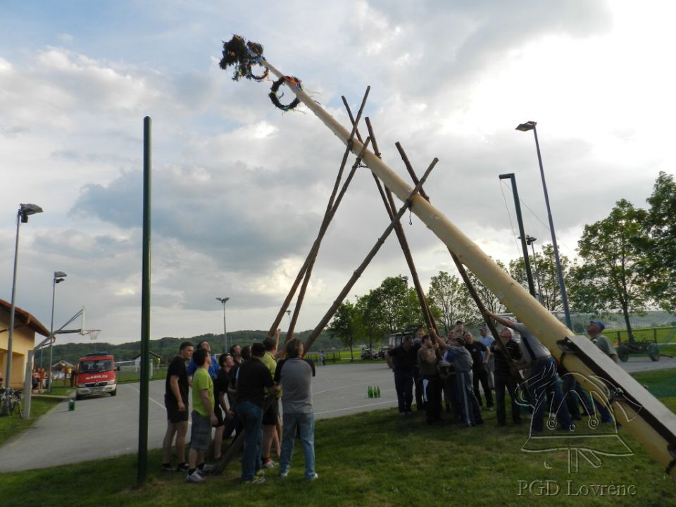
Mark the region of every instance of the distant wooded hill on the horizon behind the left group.
MULTIPOLYGON (((303 340, 303 342, 310 336, 311 330, 302 331, 295 333, 297 338, 303 340)), ((227 344, 232 346, 232 344, 239 345, 250 345, 253 342, 261 341, 268 334, 267 331, 257 331, 257 330, 244 330, 244 331, 234 331, 227 334, 227 344)), ((164 337, 160 339, 154 339, 150 341, 150 350, 158 356, 160 356, 161 362, 167 364, 171 361, 178 352, 178 347, 182 342, 192 342, 197 344, 207 340, 211 344, 211 350, 215 353, 223 352, 223 334, 201 334, 199 336, 194 336, 191 338, 173 338, 173 337, 164 337)), ((284 333, 280 341, 284 340, 284 333)), ((332 339, 323 332, 319 335, 318 339, 313 344, 313 350, 319 350, 321 348, 330 349, 333 346, 339 346, 338 343, 333 342, 332 339)), ((61 361, 69 361, 70 363, 77 363, 77 361, 87 353, 92 352, 101 352, 106 351, 115 356, 115 361, 132 361, 136 356, 141 353, 141 341, 138 342, 128 342, 119 345, 108 344, 105 342, 91 342, 91 343, 70 343, 63 345, 54 345, 54 363, 61 361)), ((38 353, 39 361, 39 353, 38 353)))

